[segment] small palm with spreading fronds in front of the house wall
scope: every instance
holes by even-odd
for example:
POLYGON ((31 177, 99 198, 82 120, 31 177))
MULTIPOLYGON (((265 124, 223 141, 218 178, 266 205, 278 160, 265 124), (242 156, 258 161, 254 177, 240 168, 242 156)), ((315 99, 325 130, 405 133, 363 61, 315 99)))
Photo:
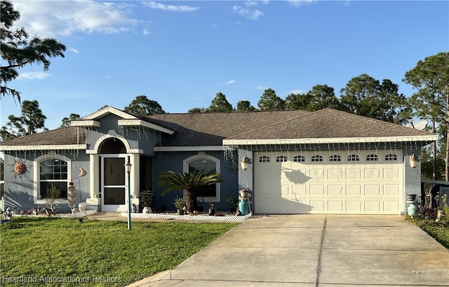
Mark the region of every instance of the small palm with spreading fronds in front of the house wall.
POLYGON ((196 200, 196 190, 202 186, 209 186, 214 183, 221 183, 222 177, 217 172, 162 172, 159 176, 157 186, 165 187, 161 195, 166 195, 170 191, 186 190, 187 211, 192 213, 198 208, 196 200))

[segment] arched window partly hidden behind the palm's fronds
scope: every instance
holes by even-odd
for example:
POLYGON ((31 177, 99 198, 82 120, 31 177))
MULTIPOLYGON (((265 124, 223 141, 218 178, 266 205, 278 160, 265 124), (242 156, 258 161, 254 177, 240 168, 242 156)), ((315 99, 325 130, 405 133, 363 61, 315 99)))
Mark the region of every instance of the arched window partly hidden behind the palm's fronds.
MULTIPOLYGON (((220 160, 211 155, 199 153, 184 160, 185 172, 200 172, 204 173, 217 172, 220 174, 220 160)), ((197 197, 201 197, 206 202, 220 201, 220 183, 215 183, 210 186, 203 186, 196 190, 197 197)))

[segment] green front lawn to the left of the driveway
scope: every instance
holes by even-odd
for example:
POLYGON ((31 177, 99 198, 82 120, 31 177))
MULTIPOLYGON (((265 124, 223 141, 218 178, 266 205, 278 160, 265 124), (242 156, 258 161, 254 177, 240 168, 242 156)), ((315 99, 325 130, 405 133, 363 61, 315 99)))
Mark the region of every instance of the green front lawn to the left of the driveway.
POLYGON ((237 223, 16 217, 1 225, 0 286, 126 286, 172 269, 237 223), (25 282, 25 283, 24 283, 25 282))

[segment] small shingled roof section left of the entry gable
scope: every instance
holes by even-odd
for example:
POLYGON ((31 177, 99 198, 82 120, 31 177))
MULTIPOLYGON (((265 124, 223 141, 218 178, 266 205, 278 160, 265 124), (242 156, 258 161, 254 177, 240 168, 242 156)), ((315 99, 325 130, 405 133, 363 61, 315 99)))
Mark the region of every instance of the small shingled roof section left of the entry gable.
POLYGON ((65 146, 74 144, 86 144, 86 131, 83 128, 60 127, 56 130, 10 139, 0 143, 0 146, 65 146))

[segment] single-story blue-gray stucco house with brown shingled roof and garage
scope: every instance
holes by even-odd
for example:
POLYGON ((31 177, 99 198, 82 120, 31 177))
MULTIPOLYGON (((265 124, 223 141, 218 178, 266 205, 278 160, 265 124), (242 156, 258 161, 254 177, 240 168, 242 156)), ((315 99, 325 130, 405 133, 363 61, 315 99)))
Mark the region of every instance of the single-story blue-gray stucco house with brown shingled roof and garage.
POLYGON ((106 106, 70 127, 2 142, 4 203, 42 206, 56 186, 58 208, 68 208, 73 183, 87 209, 126 211, 129 188, 133 204, 152 190, 156 209, 173 210, 183 192, 161 197, 161 172, 203 169, 224 180, 201 191, 206 208, 229 210, 227 198, 247 189, 255 214, 405 214, 406 195, 421 194, 421 148, 437 139, 329 108, 142 117, 106 106))

